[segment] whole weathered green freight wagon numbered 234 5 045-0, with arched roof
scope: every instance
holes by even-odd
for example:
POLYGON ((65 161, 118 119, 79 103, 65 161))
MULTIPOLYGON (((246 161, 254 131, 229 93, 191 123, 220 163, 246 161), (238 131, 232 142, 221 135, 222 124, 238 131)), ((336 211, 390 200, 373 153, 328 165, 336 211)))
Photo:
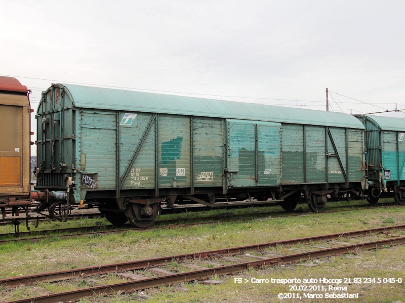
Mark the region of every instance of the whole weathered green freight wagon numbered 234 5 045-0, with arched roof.
POLYGON ((149 226, 163 201, 321 211, 365 186, 364 126, 343 113, 53 84, 36 118, 36 189, 67 197, 43 206, 101 203, 117 225, 149 226))

